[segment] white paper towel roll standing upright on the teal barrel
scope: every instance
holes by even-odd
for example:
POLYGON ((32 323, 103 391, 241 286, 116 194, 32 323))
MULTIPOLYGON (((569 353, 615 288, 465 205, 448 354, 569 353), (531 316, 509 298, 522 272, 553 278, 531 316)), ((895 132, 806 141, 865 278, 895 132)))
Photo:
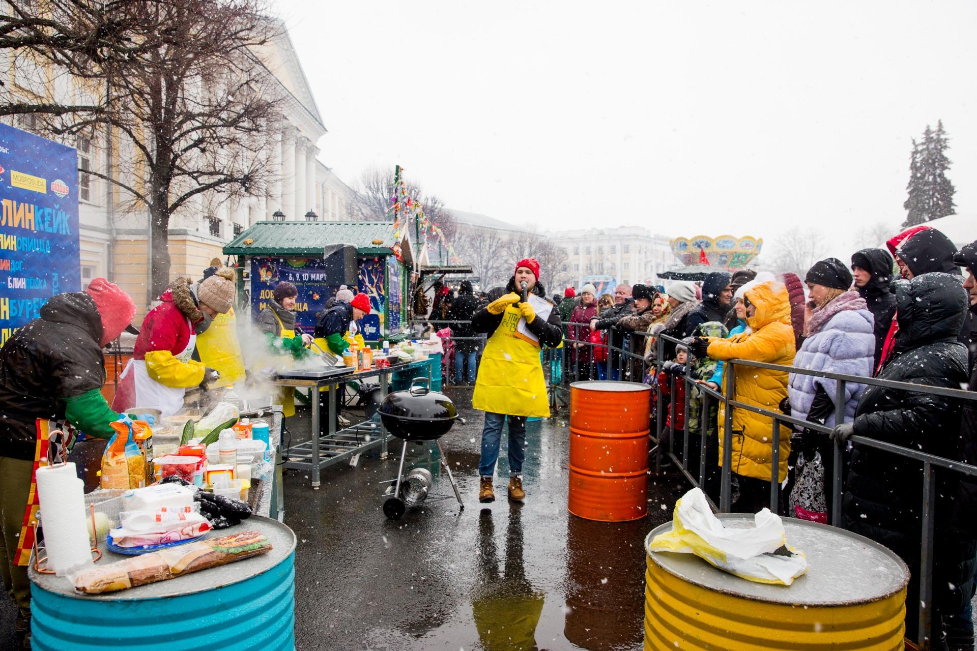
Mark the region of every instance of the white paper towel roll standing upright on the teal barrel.
POLYGON ((85 523, 85 482, 74 464, 37 468, 37 499, 48 569, 63 577, 92 564, 85 523))

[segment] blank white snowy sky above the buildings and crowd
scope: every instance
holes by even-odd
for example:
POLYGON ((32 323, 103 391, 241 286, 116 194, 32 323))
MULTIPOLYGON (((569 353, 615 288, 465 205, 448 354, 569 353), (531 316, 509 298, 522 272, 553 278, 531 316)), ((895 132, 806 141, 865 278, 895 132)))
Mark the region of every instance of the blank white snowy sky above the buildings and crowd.
POLYGON ((400 163, 450 207, 543 230, 837 239, 902 222, 910 140, 942 118, 977 213, 974 2, 273 7, 348 183, 400 163))

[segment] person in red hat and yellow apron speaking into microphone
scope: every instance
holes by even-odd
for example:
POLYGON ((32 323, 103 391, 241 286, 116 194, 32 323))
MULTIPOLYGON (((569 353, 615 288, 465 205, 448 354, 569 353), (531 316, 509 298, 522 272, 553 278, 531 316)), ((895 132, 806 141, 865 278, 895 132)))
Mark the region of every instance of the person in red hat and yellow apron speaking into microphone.
POLYGON ((492 478, 506 421, 509 423, 509 499, 514 502, 526 499, 523 490, 526 419, 549 417, 539 350, 540 346, 559 346, 563 340, 560 314, 546 301, 546 290, 539 282, 538 262, 527 258, 516 263, 516 272, 505 289, 507 294, 472 317, 472 329, 489 334, 472 396, 472 406, 486 413, 479 462, 482 477, 479 502, 495 499, 492 478), (523 283, 528 294, 526 302, 522 298, 523 283), (539 314, 533 303, 539 305, 539 314))

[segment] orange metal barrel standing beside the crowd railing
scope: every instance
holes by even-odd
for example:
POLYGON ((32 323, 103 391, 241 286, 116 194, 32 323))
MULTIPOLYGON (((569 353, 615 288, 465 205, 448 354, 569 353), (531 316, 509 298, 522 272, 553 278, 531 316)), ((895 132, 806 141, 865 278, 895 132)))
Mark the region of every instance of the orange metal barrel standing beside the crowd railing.
POLYGON ((588 520, 636 520, 648 512, 651 391, 632 382, 570 386, 570 500, 588 520))

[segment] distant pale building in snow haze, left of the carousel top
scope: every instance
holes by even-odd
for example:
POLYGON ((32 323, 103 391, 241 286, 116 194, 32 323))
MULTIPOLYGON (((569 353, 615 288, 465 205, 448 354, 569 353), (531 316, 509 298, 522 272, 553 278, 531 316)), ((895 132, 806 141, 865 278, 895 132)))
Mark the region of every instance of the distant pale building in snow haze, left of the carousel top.
POLYGON ((643 226, 565 230, 546 237, 566 249, 577 287, 587 276, 604 275, 628 285, 657 285, 656 274, 677 265, 670 238, 643 226))

